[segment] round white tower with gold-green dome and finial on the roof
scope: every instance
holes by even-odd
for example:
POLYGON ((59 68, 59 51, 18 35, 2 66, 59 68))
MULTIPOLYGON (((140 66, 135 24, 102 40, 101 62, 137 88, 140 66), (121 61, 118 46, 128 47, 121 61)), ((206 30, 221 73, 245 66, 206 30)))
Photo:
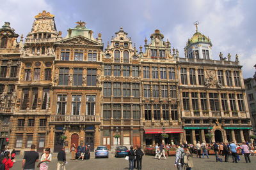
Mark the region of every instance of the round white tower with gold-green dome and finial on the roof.
POLYGON ((211 39, 198 32, 197 25, 199 22, 195 22, 196 32, 192 38, 188 39, 185 50, 185 57, 189 59, 212 59, 212 43, 211 39))

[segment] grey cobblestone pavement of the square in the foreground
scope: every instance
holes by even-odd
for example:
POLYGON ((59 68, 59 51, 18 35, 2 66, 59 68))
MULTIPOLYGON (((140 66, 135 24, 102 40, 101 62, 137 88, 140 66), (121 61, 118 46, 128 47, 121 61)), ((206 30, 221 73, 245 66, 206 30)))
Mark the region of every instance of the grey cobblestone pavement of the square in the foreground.
MULTIPOLYGON (((244 157, 241 156, 241 160, 238 164, 232 162, 215 162, 215 157, 210 156, 210 159, 199 159, 194 157, 194 168, 193 170, 252 170, 256 169, 256 156, 250 157, 252 163, 246 164, 244 157)), ((109 159, 95 159, 93 157, 90 160, 70 160, 71 157, 67 157, 67 170, 76 170, 76 169, 95 169, 95 170, 122 170, 129 169, 129 162, 124 158, 115 158, 114 155, 109 155, 109 159)), ((167 157, 167 160, 157 160, 153 156, 145 155, 142 160, 142 169, 143 170, 170 170, 177 169, 173 166, 175 157, 167 157)), ((232 161, 232 158, 229 158, 229 161, 232 161)), ((21 169, 22 157, 17 156, 17 162, 13 166, 12 170, 21 169)), ((37 164, 37 163, 36 163, 37 164)), ((50 163, 49 170, 56 170, 57 168, 56 155, 54 155, 52 162, 50 163)), ((36 168, 39 169, 39 168, 36 168)))

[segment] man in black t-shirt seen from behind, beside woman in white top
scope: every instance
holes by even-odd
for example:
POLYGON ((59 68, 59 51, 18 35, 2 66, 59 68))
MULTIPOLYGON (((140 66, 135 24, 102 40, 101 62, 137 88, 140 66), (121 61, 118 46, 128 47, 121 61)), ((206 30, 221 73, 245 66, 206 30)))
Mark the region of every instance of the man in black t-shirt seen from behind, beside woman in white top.
POLYGON ((35 151, 36 145, 30 146, 30 151, 25 152, 25 155, 22 160, 22 168, 24 170, 34 170, 35 164, 38 162, 39 154, 35 151))

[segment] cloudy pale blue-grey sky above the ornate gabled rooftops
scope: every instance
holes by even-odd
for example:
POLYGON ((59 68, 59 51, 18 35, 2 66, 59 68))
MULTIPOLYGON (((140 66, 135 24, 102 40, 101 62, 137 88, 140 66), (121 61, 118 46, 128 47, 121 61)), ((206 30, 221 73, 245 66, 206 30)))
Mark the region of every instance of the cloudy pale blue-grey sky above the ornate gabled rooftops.
POLYGON ((219 60, 219 53, 235 60, 239 55, 243 66, 243 77, 252 77, 256 64, 256 1, 254 0, 0 0, 0 26, 4 22, 18 34, 31 31, 35 15, 42 10, 55 15, 58 31, 67 35, 67 29, 75 27, 82 20, 86 27, 102 34, 104 48, 120 27, 132 38, 136 48, 144 46, 144 39, 159 29, 164 41, 170 41, 172 48, 184 57, 184 46, 198 31, 212 41, 213 59, 219 60))

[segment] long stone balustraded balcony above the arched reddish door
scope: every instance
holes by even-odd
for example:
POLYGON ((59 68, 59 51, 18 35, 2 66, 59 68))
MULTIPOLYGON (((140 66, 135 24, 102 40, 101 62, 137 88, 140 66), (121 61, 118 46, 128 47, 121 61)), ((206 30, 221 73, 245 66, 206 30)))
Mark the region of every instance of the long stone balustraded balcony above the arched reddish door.
POLYGON ((89 115, 52 115, 50 122, 97 122, 100 123, 100 117, 89 115))

